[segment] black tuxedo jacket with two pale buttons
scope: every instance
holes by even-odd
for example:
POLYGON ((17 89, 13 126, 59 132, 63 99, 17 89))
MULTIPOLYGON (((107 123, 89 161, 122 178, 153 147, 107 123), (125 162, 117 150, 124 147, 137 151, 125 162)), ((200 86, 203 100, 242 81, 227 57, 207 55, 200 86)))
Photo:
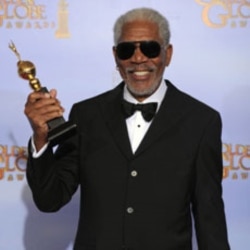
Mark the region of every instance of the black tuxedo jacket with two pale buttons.
POLYGON ((170 82, 133 154, 123 86, 73 106, 78 134, 28 160, 38 208, 53 212, 81 189, 77 250, 228 250, 218 112, 170 82))

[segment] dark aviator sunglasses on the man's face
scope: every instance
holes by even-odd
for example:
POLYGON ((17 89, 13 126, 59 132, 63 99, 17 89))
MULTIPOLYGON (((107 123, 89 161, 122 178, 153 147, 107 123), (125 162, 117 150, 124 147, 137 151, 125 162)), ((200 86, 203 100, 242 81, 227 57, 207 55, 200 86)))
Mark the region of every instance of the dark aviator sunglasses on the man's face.
POLYGON ((148 58, 155 58, 160 55, 161 45, 156 41, 121 42, 116 46, 116 55, 121 60, 131 58, 139 44, 141 52, 148 58))

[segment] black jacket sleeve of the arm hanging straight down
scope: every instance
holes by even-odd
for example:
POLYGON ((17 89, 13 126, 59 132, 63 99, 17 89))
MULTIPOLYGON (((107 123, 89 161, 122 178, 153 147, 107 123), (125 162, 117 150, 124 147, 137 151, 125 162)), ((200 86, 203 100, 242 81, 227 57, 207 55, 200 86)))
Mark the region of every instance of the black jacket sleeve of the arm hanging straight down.
POLYGON ((222 199, 221 118, 211 116, 200 140, 193 197, 197 243, 200 250, 229 250, 222 199))

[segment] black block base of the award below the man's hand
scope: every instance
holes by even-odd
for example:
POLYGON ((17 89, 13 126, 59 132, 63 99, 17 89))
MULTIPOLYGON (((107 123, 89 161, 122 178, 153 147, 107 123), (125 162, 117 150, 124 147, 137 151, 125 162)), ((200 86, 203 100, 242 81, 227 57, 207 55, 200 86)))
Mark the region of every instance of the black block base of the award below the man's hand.
POLYGON ((71 121, 65 122, 63 117, 48 121, 48 141, 55 146, 76 134, 76 124, 71 121))

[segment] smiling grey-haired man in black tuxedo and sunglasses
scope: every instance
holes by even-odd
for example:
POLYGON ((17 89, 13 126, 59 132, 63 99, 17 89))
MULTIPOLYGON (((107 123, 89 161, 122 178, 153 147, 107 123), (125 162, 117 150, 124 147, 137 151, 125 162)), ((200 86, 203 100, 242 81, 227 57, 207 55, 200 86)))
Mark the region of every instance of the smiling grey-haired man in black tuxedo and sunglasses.
POLYGON ((114 37, 124 82, 73 106, 78 133, 55 154, 46 122, 62 115, 56 92, 28 97, 36 205, 57 211, 80 185, 77 250, 191 250, 192 215, 200 250, 228 250, 218 112, 163 80, 173 49, 158 12, 127 12, 114 37))

